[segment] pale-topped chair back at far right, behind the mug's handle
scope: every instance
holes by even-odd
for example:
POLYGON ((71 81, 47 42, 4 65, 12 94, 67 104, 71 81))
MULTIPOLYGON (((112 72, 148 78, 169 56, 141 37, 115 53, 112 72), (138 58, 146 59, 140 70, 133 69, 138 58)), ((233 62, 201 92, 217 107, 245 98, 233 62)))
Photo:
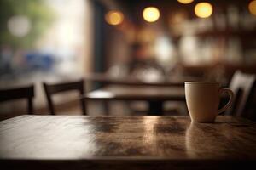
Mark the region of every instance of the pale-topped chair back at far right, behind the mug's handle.
POLYGON ((236 71, 231 78, 230 89, 234 92, 234 102, 230 110, 226 113, 228 115, 243 116, 244 111, 249 106, 250 98, 253 95, 255 88, 255 75, 245 74, 241 71, 236 71))

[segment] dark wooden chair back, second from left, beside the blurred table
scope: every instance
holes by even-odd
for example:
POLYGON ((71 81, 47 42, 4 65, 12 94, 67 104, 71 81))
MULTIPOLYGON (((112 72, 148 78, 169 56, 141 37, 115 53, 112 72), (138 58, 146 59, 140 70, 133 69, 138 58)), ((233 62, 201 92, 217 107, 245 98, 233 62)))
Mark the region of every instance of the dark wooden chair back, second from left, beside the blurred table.
MULTIPOLYGON (((79 91, 79 94, 84 94, 84 80, 80 80, 77 82, 61 82, 61 83, 55 83, 55 84, 48 84, 46 82, 43 82, 44 85, 44 92, 46 95, 46 99, 49 106, 49 111, 51 115, 55 115, 55 108, 54 103, 52 99, 52 94, 58 94, 61 92, 67 92, 72 90, 79 91)), ((84 100, 80 100, 80 104, 82 107, 83 114, 86 114, 85 109, 85 103, 84 100)))

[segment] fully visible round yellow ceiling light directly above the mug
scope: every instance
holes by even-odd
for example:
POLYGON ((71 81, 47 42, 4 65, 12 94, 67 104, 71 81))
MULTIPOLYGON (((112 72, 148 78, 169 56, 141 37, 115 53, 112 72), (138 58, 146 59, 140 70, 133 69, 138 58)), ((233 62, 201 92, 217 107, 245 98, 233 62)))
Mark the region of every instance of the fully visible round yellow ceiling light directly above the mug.
POLYGON ((210 3, 197 3, 195 5, 195 15, 200 18, 207 18, 211 16, 213 11, 210 3))

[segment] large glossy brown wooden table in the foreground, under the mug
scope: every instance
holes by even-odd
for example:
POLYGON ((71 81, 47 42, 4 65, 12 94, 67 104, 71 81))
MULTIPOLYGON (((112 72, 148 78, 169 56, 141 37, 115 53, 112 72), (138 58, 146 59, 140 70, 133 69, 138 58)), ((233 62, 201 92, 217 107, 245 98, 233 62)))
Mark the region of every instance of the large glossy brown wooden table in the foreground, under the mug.
POLYGON ((18 116, 0 122, 2 169, 234 169, 256 164, 256 123, 218 116, 18 116), (5 168, 3 168, 5 167, 5 168))

